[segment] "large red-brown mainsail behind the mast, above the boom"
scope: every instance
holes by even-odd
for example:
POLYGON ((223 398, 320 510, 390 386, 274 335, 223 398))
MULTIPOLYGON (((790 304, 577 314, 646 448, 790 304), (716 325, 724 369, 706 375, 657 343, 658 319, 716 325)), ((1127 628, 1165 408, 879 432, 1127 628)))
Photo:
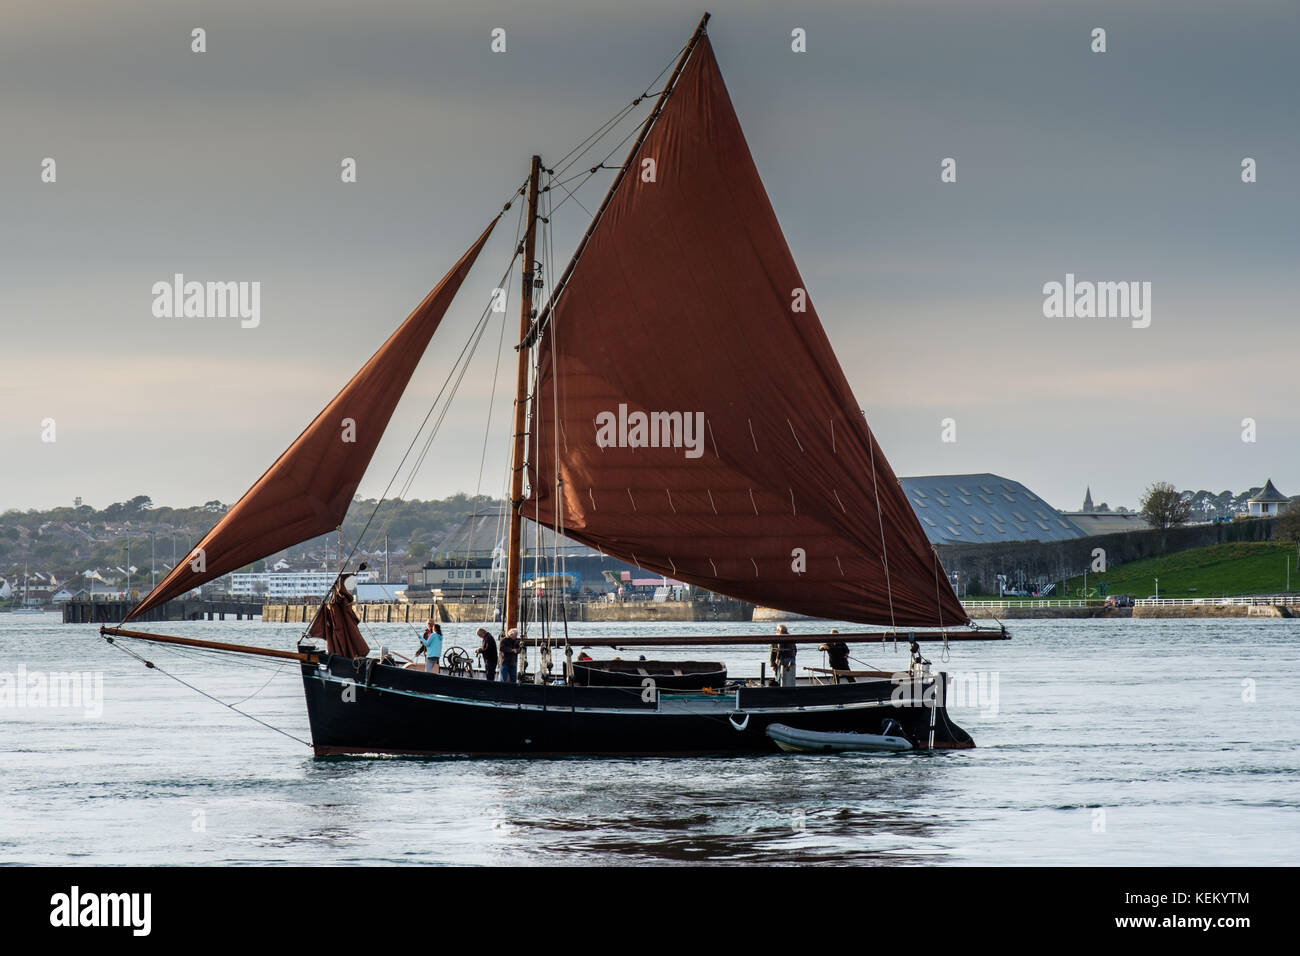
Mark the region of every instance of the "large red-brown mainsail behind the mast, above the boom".
POLYGON ((805 289, 706 36, 542 329, 524 511, 759 605, 965 623, 805 289))

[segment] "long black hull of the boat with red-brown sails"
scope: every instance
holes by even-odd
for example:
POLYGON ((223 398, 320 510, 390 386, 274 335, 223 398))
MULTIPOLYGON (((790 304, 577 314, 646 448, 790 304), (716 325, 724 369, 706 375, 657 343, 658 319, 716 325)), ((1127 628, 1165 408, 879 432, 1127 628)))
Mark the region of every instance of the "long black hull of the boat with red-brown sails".
POLYGON ((885 719, 916 749, 975 745, 948 718, 944 675, 901 685, 872 680, 656 696, 641 688, 500 684, 337 656, 302 671, 317 756, 777 753, 764 732, 770 723, 876 734, 885 719))

